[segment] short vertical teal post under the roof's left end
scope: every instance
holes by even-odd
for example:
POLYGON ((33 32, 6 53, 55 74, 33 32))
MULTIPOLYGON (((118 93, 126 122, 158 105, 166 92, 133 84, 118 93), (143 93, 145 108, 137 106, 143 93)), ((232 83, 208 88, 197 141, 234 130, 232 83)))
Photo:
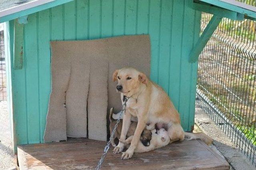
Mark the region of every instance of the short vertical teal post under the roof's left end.
POLYGON ((14 69, 22 69, 23 60, 23 30, 24 25, 20 24, 18 19, 14 20, 14 69))

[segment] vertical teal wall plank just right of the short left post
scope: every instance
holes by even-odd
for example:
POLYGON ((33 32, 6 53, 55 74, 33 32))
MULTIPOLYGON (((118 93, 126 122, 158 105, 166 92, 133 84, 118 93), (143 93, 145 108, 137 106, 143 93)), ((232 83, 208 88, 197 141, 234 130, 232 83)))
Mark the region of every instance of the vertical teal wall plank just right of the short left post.
POLYGON ((40 143, 39 86, 38 86, 38 14, 28 16, 28 23, 24 25, 24 70, 26 83, 26 117, 29 143, 40 143), (30 22, 31 21, 31 22, 30 22))

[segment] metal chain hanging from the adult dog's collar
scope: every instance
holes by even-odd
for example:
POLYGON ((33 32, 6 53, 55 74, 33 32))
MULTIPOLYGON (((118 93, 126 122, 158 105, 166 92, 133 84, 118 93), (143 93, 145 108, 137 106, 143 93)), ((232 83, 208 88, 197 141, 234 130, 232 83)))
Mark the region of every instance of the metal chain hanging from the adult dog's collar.
POLYGON ((112 131, 112 133, 111 133, 111 136, 110 136, 110 138, 109 138, 109 141, 108 141, 108 143, 107 143, 107 145, 106 145, 106 147, 105 147, 105 149, 104 149, 104 151, 103 151, 103 153, 102 153, 102 156, 101 156, 101 158, 100 158, 100 160, 99 160, 99 162, 98 162, 98 165, 96 166, 96 170, 99 170, 99 169, 100 169, 100 167, 102 166, 102 163, 103 163, 105 157, 107 156, 107 152, 108 152, 108 149, 109 149, 109 147, 110 147, 110 141, 112 140, 112 138, 113 138, 113 136, 114 136, 114 133, 116 132, 116 128, 117 128, 118 123, 119 123, 119 121, 120 121, 120 119, 121 119, 121 117, 122 117, 122 114, 126 114, 126 102, 128 101, 128 99, 129 99, 129 98, 128 98, 127 96, 125 96, 124 104, 122 105, 122 113, 119 115, 119 117, 118 117, 118 119, 117 119, 117 121, 116 121, 116 125, 115 125, 115 127, 114 127, 114 129, 113 129, 113 131, 112 131))

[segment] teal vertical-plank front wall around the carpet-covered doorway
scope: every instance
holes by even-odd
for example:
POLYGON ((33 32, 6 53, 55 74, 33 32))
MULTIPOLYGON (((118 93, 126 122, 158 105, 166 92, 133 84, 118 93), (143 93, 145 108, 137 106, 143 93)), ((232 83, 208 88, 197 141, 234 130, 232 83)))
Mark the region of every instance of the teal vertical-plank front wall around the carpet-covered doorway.
MULTIPOLYGON (((86 40, 150 34, 151 76, 180 112, 182 127, 194 124, 197 63, 188 54, 199 37, 200 13, 190 0, 75 0, 28 16, 21 70, 11 66, 12 105, 18 144, 43 143, 51 88, 51 40, 86 40)), ((10 42, 13 25, 10 21, 10 42)), ((56 122, 57 123, 57 122, 56 122)))

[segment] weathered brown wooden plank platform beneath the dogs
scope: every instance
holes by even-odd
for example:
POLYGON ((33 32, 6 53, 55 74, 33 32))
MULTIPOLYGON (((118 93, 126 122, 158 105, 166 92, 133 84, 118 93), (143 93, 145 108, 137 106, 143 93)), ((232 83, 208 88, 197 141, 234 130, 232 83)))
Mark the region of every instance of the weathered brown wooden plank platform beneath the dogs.
MULTIPOLYGON (((20 169, 95 169, 106 142, 77 139, 68 142, 19 145, 20 169)), ((182 141, 122 160, 110 148, 102 169, 228 169, 222 157, 202 141, 182 141)))

